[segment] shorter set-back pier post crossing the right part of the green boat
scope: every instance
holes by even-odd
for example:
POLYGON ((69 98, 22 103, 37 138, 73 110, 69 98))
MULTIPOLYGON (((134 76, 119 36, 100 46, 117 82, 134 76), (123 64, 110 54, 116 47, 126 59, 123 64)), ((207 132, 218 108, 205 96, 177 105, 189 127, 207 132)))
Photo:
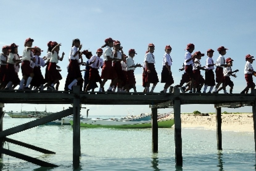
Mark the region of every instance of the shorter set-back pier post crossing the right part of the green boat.
POLYGON ((158 124, 157 124, 157 108, 151 108, 151 126, 152 126, 152 151, 158 152, 158 124))

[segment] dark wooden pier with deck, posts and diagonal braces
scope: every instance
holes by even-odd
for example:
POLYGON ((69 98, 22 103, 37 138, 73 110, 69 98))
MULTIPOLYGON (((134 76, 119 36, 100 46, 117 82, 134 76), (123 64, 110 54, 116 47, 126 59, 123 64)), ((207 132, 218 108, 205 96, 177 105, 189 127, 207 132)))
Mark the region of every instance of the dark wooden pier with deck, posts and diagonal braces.
MULTIPOLYGON (((74 115, 73 125, 73 168, 77 169, 80 165, 80 109, 81 104, 94 105, 149 105, 152 111, 152 152, 158 152, 158 125, 157 109, 174 108, 175 120, 175 161, 176 165, 182 165, 182 136, 181 136, 181 105, 188 104, 214 104, 216 108, 216 126, 217 126, 217 149, 222 149, 221 137, 221 108, 238 108, 243 106, 252 106, 254 121, 254 140, 256 139, 256 94, 209 94, 209 93, 180 93, 180 89, 174 88, 173 93, 107 93, 107 92, 80 92, 79 86, 74 90, 68 91, 19 91, 2 90, 0 91, 0 155, 10 155, 20 158, 40 166, 56 167, 58 165, 40 161, 38 159, 16 153, 9 149, 4 149, 3 142, 8 141, 17 145, 22 145, 42 153, 54 153, 47 149, 29 145, 20 141, 12 140, 7 136, 33 128, 38 125, 65 117, 74 115), (27 103, 27 104, 72 104, 72 108, 53 113, 49 116, 39 118, 10 129, 3 130, 3 107, 5 103, 27 103)), ((256 149, 256 145, 255 145, 256 149)), ((256 154, 256 153, 255 153, 256 154)))

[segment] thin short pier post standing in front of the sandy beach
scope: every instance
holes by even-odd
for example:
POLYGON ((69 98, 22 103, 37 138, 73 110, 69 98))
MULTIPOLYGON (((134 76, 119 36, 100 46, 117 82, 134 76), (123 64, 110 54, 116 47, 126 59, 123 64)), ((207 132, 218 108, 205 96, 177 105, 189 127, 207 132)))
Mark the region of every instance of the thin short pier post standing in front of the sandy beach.
POLYGON ((221 135, 221 108, 216 108, 216 126, 217 126, 217 149, 222 150, 222 135, 221 135))

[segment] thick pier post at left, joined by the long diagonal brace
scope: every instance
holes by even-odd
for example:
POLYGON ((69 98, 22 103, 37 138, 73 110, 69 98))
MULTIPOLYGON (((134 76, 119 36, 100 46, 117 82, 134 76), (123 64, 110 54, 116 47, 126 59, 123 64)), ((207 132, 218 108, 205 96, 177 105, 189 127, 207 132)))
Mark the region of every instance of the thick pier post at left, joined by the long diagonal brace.
POLYGON ((80 143, 80 86, 73 86, 73 168, 78 169, 80 165, 81 143, 80 143))

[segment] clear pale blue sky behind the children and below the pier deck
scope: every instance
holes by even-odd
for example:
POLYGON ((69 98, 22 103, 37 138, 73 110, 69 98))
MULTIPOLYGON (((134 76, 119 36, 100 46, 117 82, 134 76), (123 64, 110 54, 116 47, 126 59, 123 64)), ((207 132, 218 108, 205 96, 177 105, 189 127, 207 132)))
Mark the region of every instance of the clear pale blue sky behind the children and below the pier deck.
MULTIPOLYGON (((140 64, 144 60, 147 45, 153 43, 159 80, 164 48, 170 45, 173 85, 179 84, 183 74, 178 69, 184 62, 184 49, 188 43, 195 45, 194 52, 201 51, 206 54, 208 49, 215 50, 214 61, 218 58, 217 48, 224 46, 229 49, 225 58, 231 57, 234 60, 232 69, 239 70, 237 78, 231 78, 234 82, 233 93, 240 93, 246 87, 245 56, 256 55, 255 0, 2 0, 0 5, 0 46, 16 43, 19 45, 19 55, 22 55, 24 41, 30 37, 35 40, 33 46, 40 47, 43 50, 42 56, 46 56, 47 42, 56 41, 62 44, 60 53, 64 52, 65 55, 64 60, 59 62, 63 77, 59 90, 64 90, 68 54, 74 38, 80 39, 82 50, 89 49, 93 54, 105 44, 106 38, 119 40, 125 54, 128 55, 129 49, 136 50, 134 62, 140 64)), ((206 58, 206 55, 202 57, 202 65, 205 64, 206 58)), ((85 59, 84 56, 84 61, 85 59)), ((44 75, 45 69, 41 70, 44 75)), ((201 74, 204 76, 204 72, 201 74)), ((21 71, 19 76, 22 77, 21 71)), ((136 68, 135 78, 137 91, 142 92, 142 68, 136 68)), ((109 84, 108 81, 105 89, 109 84)), ((159 82, 155 92, 163 90, 163 85, 164 83, 159 82)), ((227 90, 229 92, 229 88, 227 90)), ((57 112, 70 106, 47 105, 47 111, 57 112)), ((89 115, 137 115, 151 112, 148 105, 82 106, 90 109, 89 115)), ((27 111, 43 111, 45 105, 22 104, 21 107, 21 104, 5 104, 4 110, 20 111, 21 108, 27 111)), ((195 110, 204 113, 215 112, 214 105, 181 106, 182 113, 195 110)), ((172 109, 158 109, 159 113, 171 111, 172 109)), ((252 107, 223 108, 222 111, 252 112, 252 107)), ((86 109, 81 109, 81 114, 86 114, 86 109)))

